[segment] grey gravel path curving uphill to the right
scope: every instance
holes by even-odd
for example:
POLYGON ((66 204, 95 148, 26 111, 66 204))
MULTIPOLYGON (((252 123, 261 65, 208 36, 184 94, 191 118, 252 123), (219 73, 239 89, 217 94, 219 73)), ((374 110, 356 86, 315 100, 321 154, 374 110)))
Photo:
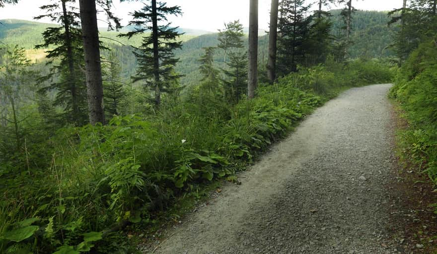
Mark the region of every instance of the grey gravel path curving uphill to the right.
POLYGON ((388 254, 390 84, 319 108, 155 253, 388 254))

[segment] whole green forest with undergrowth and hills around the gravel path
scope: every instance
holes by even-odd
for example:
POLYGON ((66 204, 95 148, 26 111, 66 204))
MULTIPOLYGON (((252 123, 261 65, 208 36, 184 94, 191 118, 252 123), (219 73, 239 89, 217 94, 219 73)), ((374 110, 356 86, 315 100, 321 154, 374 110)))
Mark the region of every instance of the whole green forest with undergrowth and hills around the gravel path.
POLYGON ((257 0, 248 33, 239 20, 180 29, 167 18, 183 8, 164 1, 124 28, 111 0, 48 2, 35 22, 0 21, 0 253, 139 253, 316 108, 369 84, 394 84, 401 157, 437 186, 436 0, 272 0, 265 35, 257 0))

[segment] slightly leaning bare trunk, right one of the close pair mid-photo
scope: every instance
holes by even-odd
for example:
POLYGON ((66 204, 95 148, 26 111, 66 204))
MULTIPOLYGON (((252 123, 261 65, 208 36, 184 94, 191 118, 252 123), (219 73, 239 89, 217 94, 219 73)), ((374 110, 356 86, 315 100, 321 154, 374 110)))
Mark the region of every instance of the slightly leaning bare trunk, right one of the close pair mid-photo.
POLYGON ((279 9, 279 0, 272 0, 272 6, 270 8, 269 66, 267 68, 267 77, 269 78, 270 83, 273 83, 276 79, 278 9, 279 9))

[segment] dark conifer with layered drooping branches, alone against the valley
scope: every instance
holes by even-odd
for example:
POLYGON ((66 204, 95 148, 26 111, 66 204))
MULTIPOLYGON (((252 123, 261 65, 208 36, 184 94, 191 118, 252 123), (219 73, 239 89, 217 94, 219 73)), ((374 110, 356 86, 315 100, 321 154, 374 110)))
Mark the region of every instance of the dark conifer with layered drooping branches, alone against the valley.
POLYGON ((177 38, 182 34, 177 31, 178 27, 170 27, 166 16, 181 15, 182 11, 179 6, 169 7, 165 2, 150 0, 144 3, 141 10, 131 14, 133 20, 129 25, 135 26, 135 30, 122 36, 131 38, 150 31, 149 35, 143 37, 142 45, 134 47, 138 68, 133 81, 143 81, 145 88, 154 92, 154 104, 158 107, 161 92, 166 92, 169 84, 181 77, 174 72, 179 59, 174 57, 173 52, 181 49, 182 42, 177 38))

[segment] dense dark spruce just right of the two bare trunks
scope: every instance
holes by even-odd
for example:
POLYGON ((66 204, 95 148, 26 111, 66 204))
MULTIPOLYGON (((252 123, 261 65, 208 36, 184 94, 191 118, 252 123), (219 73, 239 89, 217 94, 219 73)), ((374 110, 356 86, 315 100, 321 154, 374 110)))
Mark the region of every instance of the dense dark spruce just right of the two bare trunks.
POLYGON ((282 75, 297 71, 297 65, 304 63, 310 38, 311 18, 306 17, 309 7, 303 0, 281 2, 278 70, 282 75))

